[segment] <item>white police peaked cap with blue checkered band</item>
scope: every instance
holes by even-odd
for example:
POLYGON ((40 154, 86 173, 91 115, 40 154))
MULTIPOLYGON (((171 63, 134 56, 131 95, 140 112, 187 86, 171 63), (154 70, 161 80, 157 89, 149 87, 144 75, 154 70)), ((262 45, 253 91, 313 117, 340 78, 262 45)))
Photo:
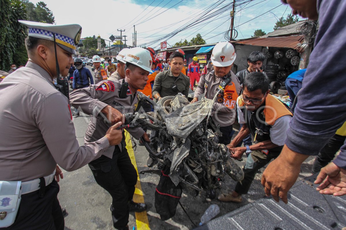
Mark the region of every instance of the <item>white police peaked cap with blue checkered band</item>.
POLYGON ((53 25, 41 22, 18 20, 28 27, 28 36, 55 41, 66 51, 76 54, 76 46, 81 38, 82 27, 78 24, 53 25))

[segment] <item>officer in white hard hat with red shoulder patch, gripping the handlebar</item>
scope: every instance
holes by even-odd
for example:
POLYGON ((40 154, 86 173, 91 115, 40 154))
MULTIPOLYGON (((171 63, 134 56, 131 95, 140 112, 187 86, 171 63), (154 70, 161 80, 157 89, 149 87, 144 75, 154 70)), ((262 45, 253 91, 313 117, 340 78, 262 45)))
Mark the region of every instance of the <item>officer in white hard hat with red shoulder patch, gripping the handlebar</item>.
MULTIPOLYGON (((152 60, 149 51, 143 48, 132 48, 123 59, 125 65, 125 79, 101 81, 88 88, 79 89, 71 93, 71 104, 80 108, 84 113, 92 115, 90 124, 85 133, 85 143, 103 137, 109 128, 104 122, 106 118, 111 123, 119 121, 114 114, 134 112, 138 104, 137 90, 144 89, 152 60), (128 84, 128 87, 126 86, 128 84), (100 108, 100 113, 94 113, 92 108, 100 108)), ((127 129, 131 135, 139 139, 143 137, 149 142, 147 134, 141 128, 127 129)), ((112 196, 110 210, 113 226, 116 229, 128 229, 129 211, 144 211, 145 204, 132 201, 137 183, 137 172, 131 163, 125 148, 125 138, 114 150, 113 157, 102 156, 89 163, 89 167, 96 182, 106 189, 112 196)))

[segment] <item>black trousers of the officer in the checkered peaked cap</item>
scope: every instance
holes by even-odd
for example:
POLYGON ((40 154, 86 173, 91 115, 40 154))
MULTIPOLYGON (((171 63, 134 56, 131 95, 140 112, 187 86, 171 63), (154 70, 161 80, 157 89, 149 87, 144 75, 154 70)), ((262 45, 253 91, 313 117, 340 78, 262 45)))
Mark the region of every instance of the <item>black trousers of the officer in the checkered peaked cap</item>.
POLYGON ((60 188, 56 180, 48 184, 42 198, 38 190, 21 196, 16 221, 1 230, 64 230, 65 221, 57 198, 60 188))

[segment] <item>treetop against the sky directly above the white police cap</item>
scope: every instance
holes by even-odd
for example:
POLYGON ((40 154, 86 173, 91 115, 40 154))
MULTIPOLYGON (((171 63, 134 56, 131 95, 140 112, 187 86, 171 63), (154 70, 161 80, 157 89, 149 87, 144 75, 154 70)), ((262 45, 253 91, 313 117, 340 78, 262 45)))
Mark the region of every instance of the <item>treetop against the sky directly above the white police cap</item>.
POLYGON ((54 24, 54 16, 51 10, 48 9, 46 3, 38 2, 36 6, 29 0, 22 0, 26 6, 27 18, 30 21, 44 22, 54 24))

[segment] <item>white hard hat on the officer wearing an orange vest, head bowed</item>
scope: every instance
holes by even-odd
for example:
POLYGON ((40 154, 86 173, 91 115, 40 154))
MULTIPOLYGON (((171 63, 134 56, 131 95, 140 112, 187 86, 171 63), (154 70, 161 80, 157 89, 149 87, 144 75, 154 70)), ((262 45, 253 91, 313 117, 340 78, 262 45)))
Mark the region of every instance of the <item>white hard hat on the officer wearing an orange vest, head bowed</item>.
POLYGON ((217 67, 226 67, 236 60, 236 53, 233 45, 228 41, 219 42, 215 45, 211 53, 211 62, 217 67))

